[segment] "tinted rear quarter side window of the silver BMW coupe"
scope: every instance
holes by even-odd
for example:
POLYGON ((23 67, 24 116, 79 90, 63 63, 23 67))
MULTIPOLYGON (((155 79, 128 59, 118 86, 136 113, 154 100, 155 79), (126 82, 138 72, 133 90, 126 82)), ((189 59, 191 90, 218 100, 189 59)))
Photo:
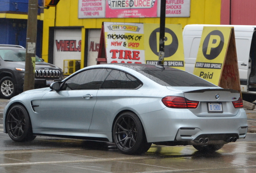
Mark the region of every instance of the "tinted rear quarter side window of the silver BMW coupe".
POLYGON ((141 82, 119 70, 112 70, 103 82, 101 89, 136 89, 141 82))

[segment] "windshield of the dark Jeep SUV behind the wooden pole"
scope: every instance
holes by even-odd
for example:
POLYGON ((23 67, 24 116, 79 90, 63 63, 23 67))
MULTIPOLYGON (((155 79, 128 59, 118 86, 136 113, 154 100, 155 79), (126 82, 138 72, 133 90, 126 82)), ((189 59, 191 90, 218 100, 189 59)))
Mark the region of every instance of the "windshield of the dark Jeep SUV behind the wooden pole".
MULTIPOLYGON (((0 57, 4 61, 25 61, 26 59, 26 49, 0 49, 0 57)), ((35 62, 43 62, 37 56, 35 57, 35 62)))

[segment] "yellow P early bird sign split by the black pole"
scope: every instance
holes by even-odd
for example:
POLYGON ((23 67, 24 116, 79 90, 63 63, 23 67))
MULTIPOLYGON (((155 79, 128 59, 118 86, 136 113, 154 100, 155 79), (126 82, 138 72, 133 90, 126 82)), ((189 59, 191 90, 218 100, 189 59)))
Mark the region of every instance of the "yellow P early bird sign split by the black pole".
MULTIPOLYGON (((144 24, 145 62, 157 64, 159 60, 159 24, 144 24)), ((164 65, 185 70, 181 24, 165 24, 164 65)))

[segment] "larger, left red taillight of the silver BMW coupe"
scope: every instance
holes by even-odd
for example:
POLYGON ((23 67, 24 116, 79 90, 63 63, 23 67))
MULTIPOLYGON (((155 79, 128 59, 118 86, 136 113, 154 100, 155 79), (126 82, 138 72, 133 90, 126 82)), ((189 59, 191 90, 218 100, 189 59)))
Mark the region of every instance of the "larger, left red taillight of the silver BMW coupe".
POLYGON ((169 108, 196 109, 199 101, 190 101, 184 97, 166 96, 162 99, 163 104, 169 108))

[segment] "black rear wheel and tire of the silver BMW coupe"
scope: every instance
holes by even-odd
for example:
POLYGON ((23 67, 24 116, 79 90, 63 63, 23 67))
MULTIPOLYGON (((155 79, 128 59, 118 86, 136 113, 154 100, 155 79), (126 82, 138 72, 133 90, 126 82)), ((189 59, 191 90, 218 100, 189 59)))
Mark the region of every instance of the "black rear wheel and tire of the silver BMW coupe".
POLYGON ((124 154, 142 154, 151 147, 151 143, 147 143, 140 119, 132 112, 122 113, 116 119, 112 135, 118 150, 124 154))

